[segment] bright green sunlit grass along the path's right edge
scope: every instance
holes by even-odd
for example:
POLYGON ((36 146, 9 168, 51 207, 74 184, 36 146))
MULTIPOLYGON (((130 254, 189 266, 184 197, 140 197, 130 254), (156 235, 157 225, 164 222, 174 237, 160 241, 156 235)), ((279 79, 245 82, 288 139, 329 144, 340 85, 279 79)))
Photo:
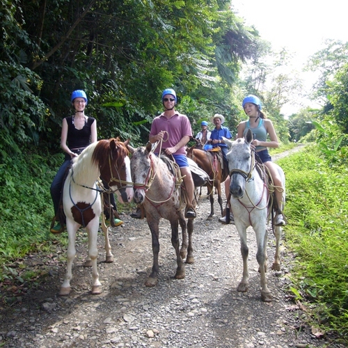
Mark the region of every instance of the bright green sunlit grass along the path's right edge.
POLYGON ((348 169, 315 145, 277 162, 285 171, 285 241, 294 251, 294 298, 308 303, 311 324, 348 343, 348 169))

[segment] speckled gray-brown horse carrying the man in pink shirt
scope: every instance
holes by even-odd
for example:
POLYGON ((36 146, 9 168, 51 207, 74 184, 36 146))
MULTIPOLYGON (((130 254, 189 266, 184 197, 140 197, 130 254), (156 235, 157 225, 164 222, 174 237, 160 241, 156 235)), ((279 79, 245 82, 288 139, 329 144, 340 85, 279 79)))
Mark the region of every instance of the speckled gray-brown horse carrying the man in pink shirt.
MULTIPOLYGON (((166 157, 157 157, 152 152, 152 144, 148 143, 146 147, 132 148, 131 172, 134 182, 134 202, 142 204, 146 220, 152 235, 152 253, 153 264, 152 271, 145 285, 152 287, 157 285, 157 276, 159 274, 159 220, 161 218, 171 223, 171 242, 175 248, 177 269, 175 278, 185 277, 183 260, 186 263, 193 263, 193 219, 184 218, 185 204, 182 200, 182 187, 177 185, 176 175, 171 170, 171 162, 166 157), (180 248, 178 228, 182 228, 182 246, 180 248), (187 232, 189 235, 189 244, 187 244, 187 232)), ((193 206, 196 205, 193 202, 193 206)))

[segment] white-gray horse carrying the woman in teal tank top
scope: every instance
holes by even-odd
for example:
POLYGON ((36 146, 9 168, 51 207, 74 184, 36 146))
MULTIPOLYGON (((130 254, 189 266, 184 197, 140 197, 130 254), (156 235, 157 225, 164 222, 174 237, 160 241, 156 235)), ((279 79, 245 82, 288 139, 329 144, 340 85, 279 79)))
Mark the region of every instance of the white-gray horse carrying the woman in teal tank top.
MULTIPOLYGON (((246 244, 246 228, 253 227, 258 245, 256 260, 260 266, 261 298, 262 301, 272 300, 271 291, 267 287, 267 222, 270 217, 269 201, 271 194, 267 185, 267 175, 259 172, 255 166, 255 152, 251 150, 253 134, 249 129, 244 138, 230 141, 223 139, 228 144, 227 154, 228 168, 230 170, 230 194, 231 208, 235 217, 235 226, 239 233, 241 252, 243 258, 243 277, 237 290, 248 290, 248 246, 246 244)), ((278 167, 283 187, 285 188, 285 175, 278 167)), ((283 203, 285 203, 285 189, 283 191, 283 203)), ((279 226, 272 226, 276 237, 276 254, 272 269, 280 270, 279 242, 282 230, 279 226)))

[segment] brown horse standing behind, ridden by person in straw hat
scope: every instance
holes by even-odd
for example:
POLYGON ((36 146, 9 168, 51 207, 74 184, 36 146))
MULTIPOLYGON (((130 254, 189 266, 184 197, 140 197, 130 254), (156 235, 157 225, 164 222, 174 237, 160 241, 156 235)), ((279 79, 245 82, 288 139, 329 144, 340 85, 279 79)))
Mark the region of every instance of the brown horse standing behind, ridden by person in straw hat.
POLYGON ((228 177, 228 168, 223 170, 221 168, 221 162, 219 161, 217 155, 222 159, 221 151, 205 151, 196 148, 196 145, 193 145, 189 150, 187 150, 187 157, 193 159, 193 161, 198 164, 198 167, 203 169, 205 173, 209 175, 209 181, 207 182, 208 196, 210 198, 210 214, 207 217, 207 220, 212 220, 214 216, 214 196, 213 188, 215 187, 218 193, 218 202, 221 208, 221 216, 223 215, 223 205, 221 198, 221 182, 224 182, 228 177))

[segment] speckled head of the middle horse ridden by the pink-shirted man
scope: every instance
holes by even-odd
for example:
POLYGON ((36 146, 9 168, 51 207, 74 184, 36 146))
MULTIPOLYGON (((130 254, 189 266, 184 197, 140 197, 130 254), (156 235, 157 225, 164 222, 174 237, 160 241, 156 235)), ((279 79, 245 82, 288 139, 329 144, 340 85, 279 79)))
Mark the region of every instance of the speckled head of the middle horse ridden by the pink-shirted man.
POLYGON ((145 147, 134 149, 128 145, 127 148, 132 153, 130 167, 134 182, 134 202, 141 204, 145 200, 145 193, 150 188, 152 180, 155 157, 152 152, 153 146, 148 143, 145 147))

